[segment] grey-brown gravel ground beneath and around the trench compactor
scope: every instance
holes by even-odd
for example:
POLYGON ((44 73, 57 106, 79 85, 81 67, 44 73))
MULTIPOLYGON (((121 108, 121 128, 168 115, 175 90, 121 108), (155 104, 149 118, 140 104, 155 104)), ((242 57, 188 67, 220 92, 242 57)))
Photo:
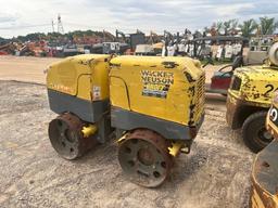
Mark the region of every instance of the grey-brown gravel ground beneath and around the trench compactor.
POLYGON ((0 207, 248 207, 253 154, 207 107, 189 155, 159 188, 126 181, 114 141, 67 161, 48 139, 46 87, 0 81, 0 207))

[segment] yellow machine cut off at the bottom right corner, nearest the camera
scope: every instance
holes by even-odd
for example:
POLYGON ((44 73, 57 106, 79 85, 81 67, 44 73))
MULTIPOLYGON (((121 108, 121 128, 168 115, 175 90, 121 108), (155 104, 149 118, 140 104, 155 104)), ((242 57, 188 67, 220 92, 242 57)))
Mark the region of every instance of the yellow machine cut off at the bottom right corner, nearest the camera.
POLYGON ((278 208, 278 93, 266 118, 266 129, 274 141, 260 152, 253 162, 251 208, 278 208))

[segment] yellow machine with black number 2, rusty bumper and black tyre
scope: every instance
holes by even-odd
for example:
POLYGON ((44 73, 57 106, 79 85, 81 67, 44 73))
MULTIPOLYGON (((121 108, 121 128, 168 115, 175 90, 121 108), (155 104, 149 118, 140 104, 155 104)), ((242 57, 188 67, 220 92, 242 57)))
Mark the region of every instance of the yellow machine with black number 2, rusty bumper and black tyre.
POLYGON ((264 65, 235 70, 227 98, 227 122, 231 129, 242 128, 247 146, 257 153, 273 136, 265 128, 271 98, 278 89, 278 42, 274 43, 264 65))

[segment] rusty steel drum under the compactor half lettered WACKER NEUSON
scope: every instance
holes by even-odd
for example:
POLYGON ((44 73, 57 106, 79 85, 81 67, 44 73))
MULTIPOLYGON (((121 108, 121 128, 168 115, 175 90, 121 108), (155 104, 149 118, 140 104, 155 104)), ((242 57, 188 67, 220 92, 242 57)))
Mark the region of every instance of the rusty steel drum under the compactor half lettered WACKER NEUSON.
POLYGON ((146 187, 161 185, 173 166, 168 143, 160 134, 138 129, 119 143, 118 160, 131 182, 146 187))

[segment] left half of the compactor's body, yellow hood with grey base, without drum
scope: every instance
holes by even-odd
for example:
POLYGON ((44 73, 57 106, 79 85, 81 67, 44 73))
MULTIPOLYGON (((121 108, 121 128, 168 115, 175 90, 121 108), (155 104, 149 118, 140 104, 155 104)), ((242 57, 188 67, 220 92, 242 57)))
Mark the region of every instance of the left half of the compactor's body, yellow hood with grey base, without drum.
POLYGON ((111 55, 76 55, 48 68, 47 87, 50 108, 59 115, 71 113, 84 122, 85 138, 98 131, 105 142, 110 131, 109 72, 111 55))

